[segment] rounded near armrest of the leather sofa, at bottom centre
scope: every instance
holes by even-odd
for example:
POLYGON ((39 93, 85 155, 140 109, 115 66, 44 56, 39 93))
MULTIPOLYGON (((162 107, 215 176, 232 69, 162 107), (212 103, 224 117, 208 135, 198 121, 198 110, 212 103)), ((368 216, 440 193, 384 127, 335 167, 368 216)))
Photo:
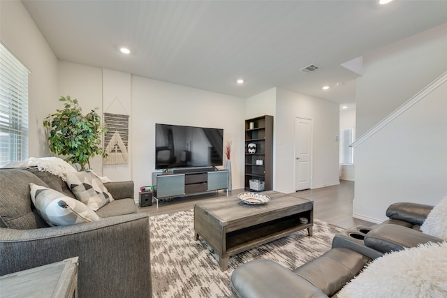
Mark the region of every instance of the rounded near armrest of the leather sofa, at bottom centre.
POLYGON ((231 274, 231 294, 237 298, 327 298, 308 281, 271 260, 254 260, 231 274))

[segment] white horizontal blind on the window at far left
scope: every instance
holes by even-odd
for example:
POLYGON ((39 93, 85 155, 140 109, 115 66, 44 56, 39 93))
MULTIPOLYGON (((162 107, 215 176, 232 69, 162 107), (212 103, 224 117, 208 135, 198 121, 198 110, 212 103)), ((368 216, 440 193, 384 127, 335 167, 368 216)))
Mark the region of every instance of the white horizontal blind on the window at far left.
POLYGON ((28 158, 28 74, 0 43, 0 167, 28 158))

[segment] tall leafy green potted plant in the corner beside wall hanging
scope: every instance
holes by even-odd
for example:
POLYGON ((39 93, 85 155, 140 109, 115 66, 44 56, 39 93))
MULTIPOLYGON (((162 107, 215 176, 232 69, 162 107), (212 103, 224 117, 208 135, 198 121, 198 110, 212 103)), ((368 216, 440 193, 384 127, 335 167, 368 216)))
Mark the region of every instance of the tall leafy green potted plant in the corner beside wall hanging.
POLYGON ((43 121, 43 126, 50 128, 50 150, 59 156, 65 156, 65 161, 78 163, 80 170, 90 168, 89 158, 95 155, 107 157, 101 147, 103 133, 101 117, 96 113, 98 107, 88 114, 82 115, 82 108, 77 99, 62 96, 64 109, 56 110, 43 121))

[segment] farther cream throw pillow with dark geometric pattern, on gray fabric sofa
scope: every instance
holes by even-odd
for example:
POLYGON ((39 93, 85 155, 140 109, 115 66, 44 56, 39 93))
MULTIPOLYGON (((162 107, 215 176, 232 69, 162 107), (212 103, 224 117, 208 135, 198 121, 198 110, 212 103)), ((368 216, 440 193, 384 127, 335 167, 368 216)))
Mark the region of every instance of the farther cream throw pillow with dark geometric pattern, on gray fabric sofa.
POLYGON ((68 188, 94 211, 113 201, 112 195, 91 171, 67 173, 68 188))

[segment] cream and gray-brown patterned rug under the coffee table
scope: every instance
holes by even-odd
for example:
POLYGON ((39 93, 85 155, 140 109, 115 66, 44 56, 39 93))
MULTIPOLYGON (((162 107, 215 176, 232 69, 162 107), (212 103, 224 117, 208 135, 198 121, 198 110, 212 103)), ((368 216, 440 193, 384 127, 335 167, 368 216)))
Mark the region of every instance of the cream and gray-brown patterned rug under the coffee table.
POLYGON ((269 259, 294 269, 330 249, 342 231, 314 219, 314 235, 295 232, 230 257, 221 271, 217 256, 205 241, 194 241, 193 210, 150 217, 152 292, 155 298, 230 297, 230 275, 250 260, 269 259))

